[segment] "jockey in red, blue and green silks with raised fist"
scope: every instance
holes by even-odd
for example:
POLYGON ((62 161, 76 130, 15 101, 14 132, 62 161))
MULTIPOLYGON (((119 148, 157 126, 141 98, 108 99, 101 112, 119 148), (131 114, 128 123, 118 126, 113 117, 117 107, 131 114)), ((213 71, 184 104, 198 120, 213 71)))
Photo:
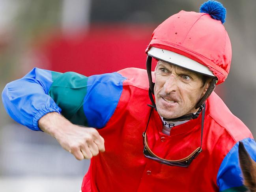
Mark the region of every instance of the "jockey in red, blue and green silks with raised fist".
POLYGON ((238 143, 254 160, 256 144, 213 92, 232 57, 225 15, 208 1, 200 13, 166 19, 146 49, 147 71, 86 77, 34 68, 6 85, 4 107, 78 160, 91 159, 82 192, 245 191, 238 143))

